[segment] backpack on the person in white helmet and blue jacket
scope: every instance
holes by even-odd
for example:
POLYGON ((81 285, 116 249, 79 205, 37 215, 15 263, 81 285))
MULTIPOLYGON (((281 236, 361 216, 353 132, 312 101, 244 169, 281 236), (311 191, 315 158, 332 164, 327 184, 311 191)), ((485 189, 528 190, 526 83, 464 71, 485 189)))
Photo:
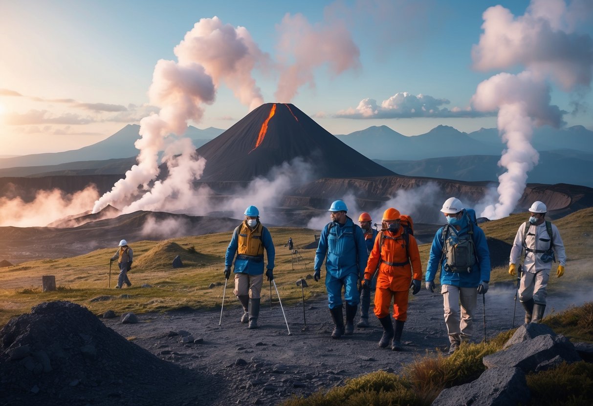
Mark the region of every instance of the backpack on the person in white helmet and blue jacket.
POLYGON ((466 236, 458 236, 455 232, 449 233, 451 224, 442 228, 443 248, 441 261, 447 259, 445 270, 447 272, 471 272, 471 268, 478 262, 476 243, 474 242, 474 227, 477 227, 476 212, 465 209, 463 215, 467 216, 468 231, 466 236))

